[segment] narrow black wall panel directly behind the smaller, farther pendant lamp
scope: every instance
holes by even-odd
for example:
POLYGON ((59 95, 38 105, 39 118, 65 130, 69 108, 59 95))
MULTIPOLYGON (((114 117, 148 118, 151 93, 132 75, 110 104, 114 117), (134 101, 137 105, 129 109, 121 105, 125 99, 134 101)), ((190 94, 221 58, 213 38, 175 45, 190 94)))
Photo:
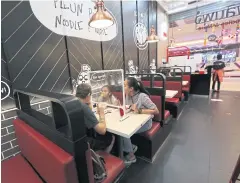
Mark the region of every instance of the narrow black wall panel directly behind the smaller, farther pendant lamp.
MULTIPOLYGON (((152 25, 154 26, 157 33, 157 2, 156 1, 149 2, 149 28, 152 27, 152 25)), ((150 34, 150 30, 149 30, 149 34, 150 34)), ((155 59, 156 66, 157 66, 157 44, 158 43, 148 44, 149 62, 152 62, 153 59, 155 59)))

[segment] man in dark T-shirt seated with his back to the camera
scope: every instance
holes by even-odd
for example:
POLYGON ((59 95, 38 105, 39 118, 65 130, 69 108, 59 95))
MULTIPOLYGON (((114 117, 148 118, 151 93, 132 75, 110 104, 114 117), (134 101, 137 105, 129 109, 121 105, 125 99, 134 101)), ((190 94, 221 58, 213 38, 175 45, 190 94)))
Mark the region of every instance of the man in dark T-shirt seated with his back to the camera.
POLYGON ((84 122, 88 129, 94 129, 100 136, 98 138, 88 137, 91 149, 94 151, 104 150, 110 152, 112 150, 115 136, 106 134, 106 121, 104 108, 98 106, 99 121, 91 110, 91 86, 88 84, 80 84, 77 87, 76 97, 83 103, 84 122))

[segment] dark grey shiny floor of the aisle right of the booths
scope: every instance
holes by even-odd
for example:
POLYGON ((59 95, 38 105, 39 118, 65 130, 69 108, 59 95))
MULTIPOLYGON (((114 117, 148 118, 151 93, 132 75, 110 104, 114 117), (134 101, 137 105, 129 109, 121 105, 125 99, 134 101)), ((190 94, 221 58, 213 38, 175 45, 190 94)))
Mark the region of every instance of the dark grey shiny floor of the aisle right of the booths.
POLYGON ((240 154, 240 92, 192 96, 153 164, 138 160, 121 183, 228 183, 240 154))

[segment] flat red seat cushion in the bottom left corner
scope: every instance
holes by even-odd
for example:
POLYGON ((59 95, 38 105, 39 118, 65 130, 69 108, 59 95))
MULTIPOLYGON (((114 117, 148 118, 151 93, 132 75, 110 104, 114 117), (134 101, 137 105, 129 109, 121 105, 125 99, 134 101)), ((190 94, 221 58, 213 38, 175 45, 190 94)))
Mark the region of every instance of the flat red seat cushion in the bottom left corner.
POLYGON ((22 155, 2 162, 2 183, 43 183, 22 155))

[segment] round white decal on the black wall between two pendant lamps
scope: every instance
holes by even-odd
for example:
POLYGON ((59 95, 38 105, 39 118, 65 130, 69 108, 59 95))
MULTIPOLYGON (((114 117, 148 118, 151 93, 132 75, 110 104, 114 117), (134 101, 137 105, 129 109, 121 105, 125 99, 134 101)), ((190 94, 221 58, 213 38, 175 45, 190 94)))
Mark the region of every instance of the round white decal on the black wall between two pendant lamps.
POLYGON ((135 24, 133 28, 133 38, 139 50, 144 50, 147 48, 148 46, 147 36, 148 36, 147 27, 143 23, 135 24))

